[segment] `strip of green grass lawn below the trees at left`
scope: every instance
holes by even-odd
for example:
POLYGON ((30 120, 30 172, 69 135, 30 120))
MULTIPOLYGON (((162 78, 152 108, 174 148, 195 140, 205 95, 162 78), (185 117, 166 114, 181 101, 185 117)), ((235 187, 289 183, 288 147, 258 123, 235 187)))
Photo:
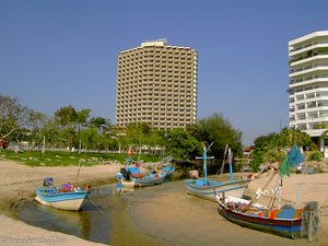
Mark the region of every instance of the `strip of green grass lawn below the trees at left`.
MULTIPOLYGON (((46 151, 44 154, 40 151, 20 151, 17 153, 10 150, 0 152, 0 160, 11 160, 28 166, 78 166, 82 162, 84 166, 106 164, 110 162, 125 163, 128 155, 113 153, 81 153, 78 152, 57 152, 46 151)), ((138 161, 138 155, 132 156, 132 160, 138 161)), ((140 160, 143 162, 159 162, 160 156, 142 154, 140 160)))

